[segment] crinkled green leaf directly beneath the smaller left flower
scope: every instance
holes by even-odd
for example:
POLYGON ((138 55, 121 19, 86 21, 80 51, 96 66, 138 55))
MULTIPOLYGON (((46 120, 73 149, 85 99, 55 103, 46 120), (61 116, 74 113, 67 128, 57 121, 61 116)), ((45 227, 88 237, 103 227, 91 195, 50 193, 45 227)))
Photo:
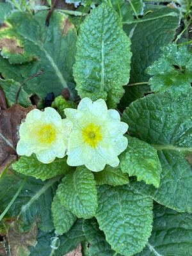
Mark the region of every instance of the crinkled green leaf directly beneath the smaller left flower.
POLYGON ((67 165, 67 158, 54 160, 50 164, 44 164, 38 161, 35 154, 29 157, 21 156, 19 161, 14 163, 13 170, 16 172, 33 176, 36 179, 47 180, 57 175, 64 175, 72 170, 72 167, 67 165))

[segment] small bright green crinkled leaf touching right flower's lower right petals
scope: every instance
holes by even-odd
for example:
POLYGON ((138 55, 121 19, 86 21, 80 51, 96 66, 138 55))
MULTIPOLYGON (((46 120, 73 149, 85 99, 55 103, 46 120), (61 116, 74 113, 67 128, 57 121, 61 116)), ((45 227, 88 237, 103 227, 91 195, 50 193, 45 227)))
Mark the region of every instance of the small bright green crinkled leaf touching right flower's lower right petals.
POLYGON ((159 187, 161 163, 157 150, 148 143, 127 136, 129 144, 120 156, 120 168, 129 176, 136 176, 137 180, 144 180, 146 184, 159 187))

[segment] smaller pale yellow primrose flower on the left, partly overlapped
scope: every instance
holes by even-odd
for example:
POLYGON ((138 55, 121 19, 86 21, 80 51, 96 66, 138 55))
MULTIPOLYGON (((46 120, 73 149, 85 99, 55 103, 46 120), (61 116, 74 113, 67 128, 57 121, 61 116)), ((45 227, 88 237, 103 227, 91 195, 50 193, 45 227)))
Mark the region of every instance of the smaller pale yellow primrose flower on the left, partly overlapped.
POLYGON ((31 156, 35 153, 37 159, 45 164, 54 161, 55 157, 63 158, 71 129, 72 123, 61 119, 55 109, 33 109, 20 124, 17 154, 31 156))

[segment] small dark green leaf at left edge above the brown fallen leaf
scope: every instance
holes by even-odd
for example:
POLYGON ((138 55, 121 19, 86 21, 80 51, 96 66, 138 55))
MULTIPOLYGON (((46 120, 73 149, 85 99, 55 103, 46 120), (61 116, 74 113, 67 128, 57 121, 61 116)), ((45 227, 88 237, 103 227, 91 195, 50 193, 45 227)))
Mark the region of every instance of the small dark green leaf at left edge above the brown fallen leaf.
MULTIPOLYGON (((16 96, 20 88, 20 83, 15 82, 13 79, 0 79, 0 87, 3 89, 9 106, 15 104, 16 96)), ((26 108, 31 106, 31 100, 29 99, 29 95, 24 91, 23 88, 21 88, 20 90, 18 103, 26 108)))

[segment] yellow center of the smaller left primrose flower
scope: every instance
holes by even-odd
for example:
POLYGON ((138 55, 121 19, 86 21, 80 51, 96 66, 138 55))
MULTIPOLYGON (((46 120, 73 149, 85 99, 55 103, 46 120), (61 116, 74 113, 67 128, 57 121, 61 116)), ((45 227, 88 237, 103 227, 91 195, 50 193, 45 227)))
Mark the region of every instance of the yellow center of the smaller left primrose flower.
POLYGON ((55 140, 56 130, 52 125, 46 124, 38 131, 38 137, 41 143, 51 143, 55 140))

